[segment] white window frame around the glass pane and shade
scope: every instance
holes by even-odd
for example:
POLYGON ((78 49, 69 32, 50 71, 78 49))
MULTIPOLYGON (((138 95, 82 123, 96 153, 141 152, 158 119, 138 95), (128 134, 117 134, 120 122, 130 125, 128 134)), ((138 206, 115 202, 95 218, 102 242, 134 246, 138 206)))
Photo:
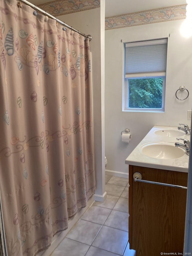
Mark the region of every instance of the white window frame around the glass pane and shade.
MULTIPOLYGON (((167 39, 167 45, 168 45, 168 38, 167 39)), ((151 40, 158 40, 158 39, 151 39, 151 40)), ((149 40, 145 40, 146 42, 149 40)), ((130 42, 140 45, 140 42, 143 41, 137 41, 137 42, 130 42)), ((125 55, 126 55, 126 43, 124 43, 124 59, 123 59, 123 73, 124 73, 124 79, 123 79, 123 97, 122 97, 122 111, 124 112, 155 112, 155 113, 162 113, 165 112, 165 88, 166 88, 166 73, 167 73, 167 67, 165 72, 154 72, 154 73, 137 73, 137 74, 125 74, 125 55), (142 78, 163 78, 163 88, 162 88, 162 106, 161 108, 131 108, 129 106, 129 79, 142 79, 142 78)))

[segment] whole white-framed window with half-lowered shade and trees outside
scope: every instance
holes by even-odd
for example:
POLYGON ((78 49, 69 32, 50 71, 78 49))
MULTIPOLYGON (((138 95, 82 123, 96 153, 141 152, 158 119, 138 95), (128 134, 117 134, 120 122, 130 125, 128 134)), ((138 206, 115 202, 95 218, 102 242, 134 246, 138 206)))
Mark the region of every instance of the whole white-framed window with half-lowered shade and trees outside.
POLYGON ((123 111, 163 112, 167 38, 125 44, 123 111))

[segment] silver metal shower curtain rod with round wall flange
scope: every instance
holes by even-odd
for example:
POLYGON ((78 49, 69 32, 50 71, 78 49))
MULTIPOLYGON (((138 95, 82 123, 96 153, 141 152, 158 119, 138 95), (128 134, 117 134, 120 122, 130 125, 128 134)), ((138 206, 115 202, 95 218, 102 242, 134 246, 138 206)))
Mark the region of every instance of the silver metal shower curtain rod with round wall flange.
POLYGON ((55 16, 52 16, 51 14, 47 13, 47 12, 44 11, 43 9, 39 8, 37 5, 34 5, 34 4, 32 4, 32 3, 30 3, 30 2, 28 2, 28 1, 26 1, 26 0, 19 0, 19 1, 25 3, 25 4, 29 5, 29 6, 31 6, 31 7, 34 8, 35 10, 40 11, 41 13, 43 13, 43 14, 45 14, 46 16, 52 18, 53 20, 56 20, 58 23, 60 23, 61 25, 67 27, 68 29, 71 29, 71 30, 77 32, 78 34, 84 36, 85 38, 89 38, 89 41, 91 41, 91 39, 92 39, 92 36, 91 36, 91 35, 85 35, 85 34, 83 34, 82 32, 80 32, 80 31, 74 29, 73 27, 67 25, 67 24, 64 23, 63 21, 57 19, 55 16))

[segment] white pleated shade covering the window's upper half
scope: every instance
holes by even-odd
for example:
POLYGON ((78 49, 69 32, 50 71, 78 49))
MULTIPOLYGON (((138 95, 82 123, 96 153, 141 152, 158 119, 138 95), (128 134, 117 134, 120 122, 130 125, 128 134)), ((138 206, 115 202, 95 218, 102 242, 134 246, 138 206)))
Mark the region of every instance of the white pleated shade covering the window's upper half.
POLYGON ((125 77, 136 74, 160 73, 165 75, 167 65, 167 38, 144 42, 127 43, 125 77))

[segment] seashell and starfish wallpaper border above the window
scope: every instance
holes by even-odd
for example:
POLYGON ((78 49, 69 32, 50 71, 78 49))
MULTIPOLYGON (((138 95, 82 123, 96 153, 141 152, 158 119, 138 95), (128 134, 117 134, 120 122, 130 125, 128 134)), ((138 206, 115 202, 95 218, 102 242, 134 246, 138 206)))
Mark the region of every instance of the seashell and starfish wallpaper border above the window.
POLYGON ((186 18, 186 6, 176 5, 105 18, 105 30, 186 18))

